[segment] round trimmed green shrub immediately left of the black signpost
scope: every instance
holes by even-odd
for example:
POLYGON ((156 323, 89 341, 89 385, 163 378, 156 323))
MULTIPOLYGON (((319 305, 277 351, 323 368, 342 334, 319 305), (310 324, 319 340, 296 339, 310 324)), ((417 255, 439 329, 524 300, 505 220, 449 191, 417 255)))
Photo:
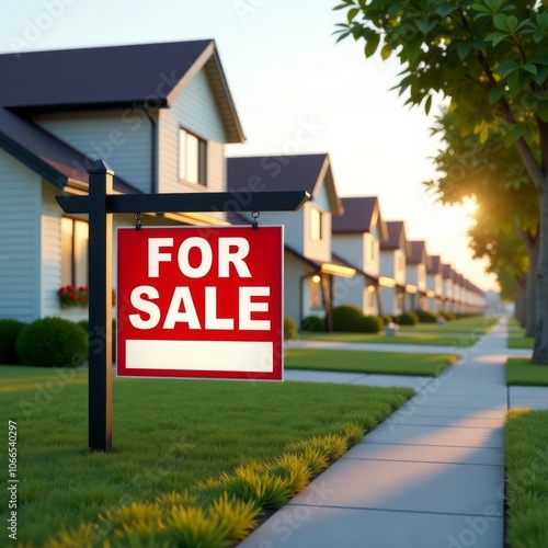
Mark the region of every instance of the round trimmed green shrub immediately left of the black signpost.
POLYGON ((88 359, 83 328, 62 318, 42 318, 25 326, 15 345, 25 365, 78 367, 88 359))

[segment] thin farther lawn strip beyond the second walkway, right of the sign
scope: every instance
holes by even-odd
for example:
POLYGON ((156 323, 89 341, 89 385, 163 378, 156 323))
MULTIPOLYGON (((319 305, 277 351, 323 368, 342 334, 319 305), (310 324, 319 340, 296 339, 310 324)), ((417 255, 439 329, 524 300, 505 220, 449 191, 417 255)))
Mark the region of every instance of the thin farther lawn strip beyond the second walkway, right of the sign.
POLYGON ((334 342, 361 342, 383 344, 432 344, 435 346, 472 346, 478 342, 475 335, 463 334, 460 336, 443 335, 437 333, 411 333, 387 336, 385 334, 367 333, 301 333, 300 338, 308 341, 334 341, 334 342))

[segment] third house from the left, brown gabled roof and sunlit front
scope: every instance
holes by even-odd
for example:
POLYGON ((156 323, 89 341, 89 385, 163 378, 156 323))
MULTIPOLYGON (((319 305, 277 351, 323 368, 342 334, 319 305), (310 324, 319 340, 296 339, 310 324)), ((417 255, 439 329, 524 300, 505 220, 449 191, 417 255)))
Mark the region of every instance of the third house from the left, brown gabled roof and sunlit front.
POLYGON ((344 214, 333 217, 332 248, 336 256, 353 265, 358 275, 335 279, 335 302, 352 304, 365 315, 383 315, 380 244, 388 232, 376 196, 342 198, 344 214))

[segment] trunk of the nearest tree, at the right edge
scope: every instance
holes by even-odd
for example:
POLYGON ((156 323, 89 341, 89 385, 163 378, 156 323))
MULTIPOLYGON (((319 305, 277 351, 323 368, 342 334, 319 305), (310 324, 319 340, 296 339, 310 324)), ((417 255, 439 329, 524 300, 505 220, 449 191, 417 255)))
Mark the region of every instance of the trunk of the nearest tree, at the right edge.
POLYGON ((533 363, 548 365, 548 182, 539 193, 540 231, 537 263, 537 329, 533 363))

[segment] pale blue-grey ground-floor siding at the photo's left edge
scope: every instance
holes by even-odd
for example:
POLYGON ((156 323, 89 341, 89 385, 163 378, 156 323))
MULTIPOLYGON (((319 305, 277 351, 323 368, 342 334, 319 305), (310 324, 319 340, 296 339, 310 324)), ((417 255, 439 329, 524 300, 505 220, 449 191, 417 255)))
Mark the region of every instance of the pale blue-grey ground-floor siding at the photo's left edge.
POLYGON ((0 150, 0 317, 39 316, 42 182, 0 150))

